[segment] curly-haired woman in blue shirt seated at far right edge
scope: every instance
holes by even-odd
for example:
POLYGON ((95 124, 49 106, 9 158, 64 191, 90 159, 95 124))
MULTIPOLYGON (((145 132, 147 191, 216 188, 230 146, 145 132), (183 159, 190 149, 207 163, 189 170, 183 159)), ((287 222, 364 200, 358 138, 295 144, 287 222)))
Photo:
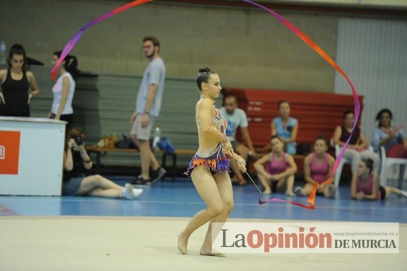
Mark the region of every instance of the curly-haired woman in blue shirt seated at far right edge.
POLYGON ((373 148, 379 151, 380 146, 385 147, 387 157, 407 158, 407 139, 404 138, 402 126, 391 126, 392 112, 385 108, 377 113, 376 121, 379 122, 373 131, 373 148))

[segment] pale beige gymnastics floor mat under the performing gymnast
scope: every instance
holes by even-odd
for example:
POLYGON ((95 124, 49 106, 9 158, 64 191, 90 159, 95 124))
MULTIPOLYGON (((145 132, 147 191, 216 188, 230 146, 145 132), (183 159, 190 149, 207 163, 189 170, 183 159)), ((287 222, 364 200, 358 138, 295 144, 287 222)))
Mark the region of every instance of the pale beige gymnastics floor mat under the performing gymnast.
POLYGON ((399 254, 229 254, 218 258, 198 255, 206 227, 191 236, 189 255, 179 254, 177 234, 187 221, 169 217, 0 217, 0 270, 395 271, 407 268, 407 224, 400 224, 399 254))

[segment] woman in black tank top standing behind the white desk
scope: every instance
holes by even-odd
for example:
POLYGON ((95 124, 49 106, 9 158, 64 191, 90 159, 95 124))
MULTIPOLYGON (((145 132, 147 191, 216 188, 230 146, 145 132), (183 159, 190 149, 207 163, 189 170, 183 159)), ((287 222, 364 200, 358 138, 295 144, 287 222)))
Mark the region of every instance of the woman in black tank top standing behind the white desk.
POLYGON ((0 116, 30 117, 30 100, 39 93, 34 74, 26 71, 24 48, 14 44, 9 52, 8 70, 0 71, 0 116), (31 86, 32 92, 29 94, 31 86))

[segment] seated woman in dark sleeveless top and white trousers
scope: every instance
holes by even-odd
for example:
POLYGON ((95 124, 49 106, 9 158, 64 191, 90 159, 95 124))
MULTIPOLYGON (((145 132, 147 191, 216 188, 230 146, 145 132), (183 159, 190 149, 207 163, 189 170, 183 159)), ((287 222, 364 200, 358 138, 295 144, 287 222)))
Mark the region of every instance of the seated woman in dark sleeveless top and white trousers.
MULTIPOLYGON (((352 132, 355 115, 353 111, 349 110, 344 113, 344 124, 337 126, 333 134, 333 143, 343 147, 352 132)), ((379 155, 377 153, 367 150, 368 141, 359 127, 355 127, 352 138, 349 141, 343 157, 351 161, 352 173, 357 171, 357 166, 362 159, 371 159, 374 163, 373 172, 377 173, 379 170, 379 155)))

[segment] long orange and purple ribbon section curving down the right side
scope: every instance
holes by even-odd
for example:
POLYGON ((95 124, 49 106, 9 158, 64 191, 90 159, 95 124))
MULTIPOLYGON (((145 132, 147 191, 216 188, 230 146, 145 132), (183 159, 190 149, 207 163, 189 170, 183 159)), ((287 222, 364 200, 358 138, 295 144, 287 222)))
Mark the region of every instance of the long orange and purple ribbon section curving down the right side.
MULTIPOLYGON (((273 11, 271 9, 268 9, 268 8, 262 6, 262 5, 259 5, 259 4, 255 3, 255 2, 251 1, 251 0, 242 0, 242 1, 246 2, 248 4, 251 4, 251 5, 257 6, 259 8, 262 8, 263 10, 267 11, 268 13, 270 13, 274 17, 276 17, 288 29, 290 29, 294 34, 296 34, 299 38, 301 38, 316 53, 318 53, 326 61, 328 61, 328 63, 331 64, 336 71, 338 71, 343 77, 345 77, 345 79, 348 81, 350 87, 352 88, 353 101, 354 101, 354 104, 355 104, 355 113, 354 113, 355 114, 355 122, 353 123, 352 132, 350 133, 348 140, 346 141, 346 143, 345 143, 344 147, 342 148, 341 152, 339 153, 339 155, 336 157, 335 164, 333 165, 333 168, 332 168, 331 176, 329 177, 328 180, 321 183, 321 184, 324 184, 324 185, 328 185, 328 184, 332 183, 333 176, 334 176, 334 173, 336 171, 336 168, 338 167, 339 162, 341 161, 341 158, 344 155, 344 151, 345 151, 346 147, 348 146, 350 139, 352 138, 353 132, 354 132, 355 127, 356 127, 357 120, 359 118, 360 103, 359 103, 359 99, 357 97, 356 89, 353 86, 352 82, 350 81, 349 77, 346 75, 346 73, 344 71, 342 71, 341 67, 338 66, 336 64, 336 62, 333 61, 333 59, 327 53, 325 53, 324 50, 322 50, 318 45, 316 45, 316 43, 313 42, 307 35, 305 35, 303 32, 301 32, 301 30, 299 30, 297 27, 292 25, 288 20, 283 18, 280 14, 278 14, 277 12, 275 12, 275 11, 273 11)), ((259 196, 259 204, 262 205, 262 204, 266 204, 267 202, 278 201, 278 202, 288 202, 290 204, 297 205, 297 206, 307 208, 307 209, 315 209, 314 201, 315 201, 315 194, 316 194, 316 187, 317 186, 318 186, 318 183, 315 183, 313 188, 312 188, 312 192, 308 197, 308 202, 309 202, 310 205, 303 205, 303 204, 301 204, 299 202, 296 202, 296 201, 290 201, 290 200, 285 200, 285 199, 280 199, 280 198, 272 198, 272 199, 270 199, 268 201, 262 201, 261 200, 261 194, 259 196)))

